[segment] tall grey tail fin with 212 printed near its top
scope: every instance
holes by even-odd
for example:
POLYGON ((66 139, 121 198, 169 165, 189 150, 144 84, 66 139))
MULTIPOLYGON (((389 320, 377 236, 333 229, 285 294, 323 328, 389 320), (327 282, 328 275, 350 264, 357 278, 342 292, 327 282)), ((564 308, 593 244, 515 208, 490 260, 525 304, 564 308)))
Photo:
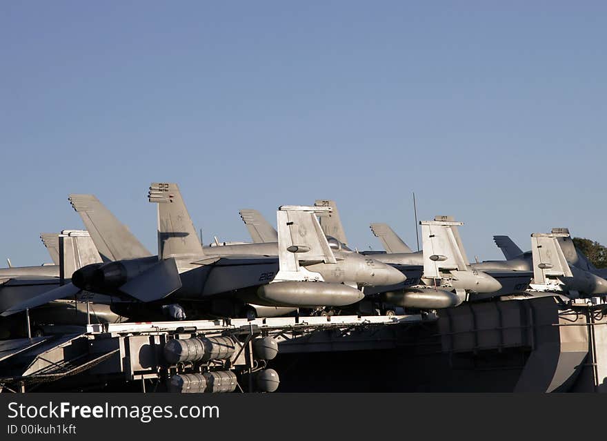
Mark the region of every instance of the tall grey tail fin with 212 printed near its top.
POLYGON ((158 204, 158 256, 204 255, 177 184, 154 182, 148 200, 158 204))

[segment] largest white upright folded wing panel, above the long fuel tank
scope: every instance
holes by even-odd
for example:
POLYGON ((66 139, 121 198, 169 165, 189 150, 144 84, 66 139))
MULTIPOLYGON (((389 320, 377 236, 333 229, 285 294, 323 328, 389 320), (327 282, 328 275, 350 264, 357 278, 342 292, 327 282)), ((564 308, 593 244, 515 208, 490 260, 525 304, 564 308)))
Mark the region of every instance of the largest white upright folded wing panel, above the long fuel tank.
POLYGON ((337 260, 316 217, 330 207, 281 206, 277 211, 279 273, 275 280, 323 280, 300 262, 335 264, 337 260))

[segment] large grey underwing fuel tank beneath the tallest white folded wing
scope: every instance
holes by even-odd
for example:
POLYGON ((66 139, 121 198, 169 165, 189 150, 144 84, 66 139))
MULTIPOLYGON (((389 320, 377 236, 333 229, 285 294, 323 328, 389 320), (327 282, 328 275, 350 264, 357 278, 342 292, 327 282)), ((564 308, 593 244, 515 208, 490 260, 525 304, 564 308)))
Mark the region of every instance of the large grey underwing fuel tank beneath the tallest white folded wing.
POLYGON ((362 300, 364 294, 343 284, 289 280, 259 286, 257 297, 270 305, 313 308, 350 305, 362 300))

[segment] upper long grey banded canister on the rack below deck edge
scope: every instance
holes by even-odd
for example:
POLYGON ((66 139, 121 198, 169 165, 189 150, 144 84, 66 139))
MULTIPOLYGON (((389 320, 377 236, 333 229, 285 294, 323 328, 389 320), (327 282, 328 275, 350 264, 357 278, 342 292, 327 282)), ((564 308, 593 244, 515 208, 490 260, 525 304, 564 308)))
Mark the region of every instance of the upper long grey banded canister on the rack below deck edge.
POLYGON ((226 360, 234 351, 235 343, 230 337, 173 339, 164 345, 164 357, 170 364, 226 360))

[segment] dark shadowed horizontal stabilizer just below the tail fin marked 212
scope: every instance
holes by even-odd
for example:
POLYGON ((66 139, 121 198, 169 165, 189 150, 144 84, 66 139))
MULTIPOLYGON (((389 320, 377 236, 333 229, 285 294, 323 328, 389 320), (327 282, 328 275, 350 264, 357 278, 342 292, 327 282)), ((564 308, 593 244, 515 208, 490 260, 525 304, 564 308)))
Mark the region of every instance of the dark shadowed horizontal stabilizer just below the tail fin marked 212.
POLYGON ((161 300, 181 288, 175 259, 163 259, 120 287, 120 291, 140 302, 161 300))

